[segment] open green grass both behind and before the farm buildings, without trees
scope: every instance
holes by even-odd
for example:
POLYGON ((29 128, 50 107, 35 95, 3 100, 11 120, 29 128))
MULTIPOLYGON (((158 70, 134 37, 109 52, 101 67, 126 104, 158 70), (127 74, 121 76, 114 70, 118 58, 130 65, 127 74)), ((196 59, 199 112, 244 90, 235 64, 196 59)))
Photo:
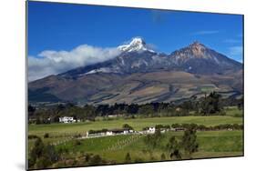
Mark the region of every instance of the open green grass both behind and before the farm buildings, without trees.
MULTIPOLYGON (((170 136, 176 136, 178 141, 183 136, 181 132, 167 132, 162 134, 162 139, 158 146, 151 148, 145 143, 145 135, 122 135, 103 136, 87 139, 74 139, 80 134, 86 135, 90 129, 99 130, 102 128, 120 128, 124 124, 132 126, 135 130, 142 130, 146 126, 172 125, 172 124, 198 124, 204 126, 218 126, 223 124, 243 124, 242 111, 236 107, 225 109, 226 116, 171 116, 171 117, 150 117, 114 120, 99 120, 96 122, 81 122, 75 124, 50 124, 50 125, 29 125, 28 134, 40 136, 45 144, 55 144, 56 150, 67 149, 68 152, 62 154, 65 160, 58 161, 51 167, 56 166, 85 166, 85 155, 99 155, 108 164, 125 163, 125 156, 129 153, 131 161, 128 163, 138 163, 145 161, 170 160, 165 146, 170 136), (48 133, 49 137, 44 138, 48 133), (72 139, 73 138, 73 139, 72 139), (79 141, 79 144, 77 144, 79 141), (165 156, 165 159, 162 158, 165 156), (65 161, 65 162, 64 162, 65 161)), ((28 140, 29 151, 34 146, 36 139, 28 140)), ((243 155, 243 131, 242 130, 220 130, 220 131, 198 131, 197 141, 199 151, 186 158, 205 158, 220 156, 242 156, 243 155)))

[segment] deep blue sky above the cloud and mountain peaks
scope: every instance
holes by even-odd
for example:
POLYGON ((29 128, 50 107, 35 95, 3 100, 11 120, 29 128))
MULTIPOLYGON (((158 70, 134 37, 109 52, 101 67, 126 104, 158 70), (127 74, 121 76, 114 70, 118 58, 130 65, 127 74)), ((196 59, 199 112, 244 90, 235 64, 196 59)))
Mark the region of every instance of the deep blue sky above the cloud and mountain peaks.
POLYGON ((242 15, 28 3, 30 58, 68 53, 79 45, 116 47, 135 36, 167 54, 197 40, 237 61, 242 58, 242 15))

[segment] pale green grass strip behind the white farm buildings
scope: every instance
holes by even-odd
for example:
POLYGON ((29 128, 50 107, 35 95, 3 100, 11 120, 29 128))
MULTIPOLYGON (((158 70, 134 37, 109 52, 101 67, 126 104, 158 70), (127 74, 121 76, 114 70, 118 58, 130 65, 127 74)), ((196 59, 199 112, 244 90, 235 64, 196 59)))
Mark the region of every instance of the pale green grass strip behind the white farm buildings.
POLYGON ((220 124, 242 124, 242 117, 233 116, 172 116, 172 117, 152 117, 136 119, 118 119, 110 121, 84 122, 77 124, 51 124, 51 125, 29 125, 29 135, 50 136, 62 135, 72 136, 75 134, 86 134, 90 129, 118 128, 123 124, 133 126, 135 130, 141 130, 146 126, 172 125, 181 123, 195 123, 205 126, 216 126, 220 124))

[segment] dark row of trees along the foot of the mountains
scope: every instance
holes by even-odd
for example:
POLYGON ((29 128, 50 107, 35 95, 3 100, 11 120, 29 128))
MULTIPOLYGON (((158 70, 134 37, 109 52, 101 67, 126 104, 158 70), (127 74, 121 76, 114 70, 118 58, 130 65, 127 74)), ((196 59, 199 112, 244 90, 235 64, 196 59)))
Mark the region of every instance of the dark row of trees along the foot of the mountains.
POLYGON ((213 116, 225 115, 224 106, 237 105, 240 109, 243 108, 243 98, 234 99, 221 98, 218 93, 210 93, 209 96, 200 98, 193 97, 189 100, 180 103, 148 103, 143 105, 138 104, 115 104, 99 105, 99 106, 75 106, 73 104, 57 105, 51 107, 35 107, 28 106, 29 123, 48 124, 59 122, 61 116, 74 116, 75 119, 82 121, 94 121, 97 116, 124 116, 134 118, 154 117, 154 116, 213 116))

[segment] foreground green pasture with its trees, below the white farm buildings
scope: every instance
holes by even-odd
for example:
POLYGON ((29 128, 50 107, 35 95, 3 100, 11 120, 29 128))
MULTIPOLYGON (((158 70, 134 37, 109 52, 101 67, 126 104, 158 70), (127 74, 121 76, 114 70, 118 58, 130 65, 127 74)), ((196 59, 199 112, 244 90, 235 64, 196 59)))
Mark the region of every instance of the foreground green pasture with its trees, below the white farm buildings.
MULTIPOLYGON (((183 131, 168 132, 156 137, 160 138, 160 141, 156 141, 154 147, 148 146, 146 138, 147 136, 129 135, 81 139, 78 140, 79 143, 77 140, 70 140, 55 146, 57 157, 61 159, 55 164, 48 163, 46 167, 243 155, 242 131, 199 131, 196 135, 185 134, 183 131)), ((38 161, 42 160, 41 157, 38 161)))

